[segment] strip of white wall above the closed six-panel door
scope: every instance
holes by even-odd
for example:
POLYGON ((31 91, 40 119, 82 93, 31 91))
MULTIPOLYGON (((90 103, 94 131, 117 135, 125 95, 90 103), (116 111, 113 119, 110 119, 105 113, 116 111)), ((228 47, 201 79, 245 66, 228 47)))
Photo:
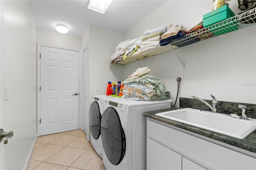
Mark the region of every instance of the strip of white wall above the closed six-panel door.
POLYGON ((40 29, 37 30, 37 42, 59 47, 81 49, 80 37, 40 29))

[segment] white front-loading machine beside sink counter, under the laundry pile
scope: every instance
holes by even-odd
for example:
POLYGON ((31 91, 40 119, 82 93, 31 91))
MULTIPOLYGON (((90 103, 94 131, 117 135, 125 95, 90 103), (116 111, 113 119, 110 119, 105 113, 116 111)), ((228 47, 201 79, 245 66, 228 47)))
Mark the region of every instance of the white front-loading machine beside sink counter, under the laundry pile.
POLYGON ((107 170, 146 169, 146 117, 143 113, 168 109, 171 102, 171 99, 105 99, 100 131, 102 159, 107 170))

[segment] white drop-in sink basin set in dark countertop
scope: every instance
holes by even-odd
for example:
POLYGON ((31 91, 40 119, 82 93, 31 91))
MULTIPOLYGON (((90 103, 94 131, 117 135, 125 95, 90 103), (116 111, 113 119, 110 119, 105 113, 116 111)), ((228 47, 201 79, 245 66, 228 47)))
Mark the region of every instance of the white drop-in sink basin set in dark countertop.
POLYGON ((239 139, 246 138, 256 129, 256 119, 242 120, 190 108, 157 113, 156 115, 239 139))

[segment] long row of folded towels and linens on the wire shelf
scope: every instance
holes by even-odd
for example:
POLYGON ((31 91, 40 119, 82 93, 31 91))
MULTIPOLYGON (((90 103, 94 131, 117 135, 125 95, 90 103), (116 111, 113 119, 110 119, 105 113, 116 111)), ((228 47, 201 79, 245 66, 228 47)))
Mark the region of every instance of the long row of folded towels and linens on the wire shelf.
MULTIPOLYGON (((129 57, 137 57, 137 56, 152 56, 152 53, 155 51, 158 52, 166 52, 167 50, 165 46, 172 43, 174 40, 181 40, 187 34, 195 32, 198 34, 198 30, 202 29, 202 22, 198 22, 190 29, 183 27, 182 25, 173 26, 171 23, 162 27, 155 28, 153 30, 147 30, 144 32, 144 36, 138 37, 133 40, 126 40, 118 44, 114 53, 111 56, 110 65, 115 65, 120 61, 124 61, 129 57)), ((202 35, 201 35, 202 36, 202 35)), ((210 33, 206 33, 203 35, 204 39, 209 38, 210 33)), ((177 42, 172 45, 172 47, 182 47, 184 45, 188 45, 191 43, 195 43, 200 41, 200 38, 197 36, 191 36, 186 38, 186 40, 182 42, 177 42)), ((154 53, 153 55, 156 55, 154 53)))

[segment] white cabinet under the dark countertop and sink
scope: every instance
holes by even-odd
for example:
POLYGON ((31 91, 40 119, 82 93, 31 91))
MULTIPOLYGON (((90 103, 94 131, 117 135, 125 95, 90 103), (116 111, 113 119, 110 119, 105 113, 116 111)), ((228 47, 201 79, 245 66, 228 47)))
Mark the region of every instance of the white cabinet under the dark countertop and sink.
MULTIPOLYGON (((161 156, 159 152, 162 151, 158 151, 158 156, 152 157, 151 154, 156 154, 162 147, 185 157, 182 158, 182 169, 256 169, 254 153, 255 156, 247 156, 242 154, 241 150, 226 148, 227 144, 216 144, 202 139, 199 135, 150 118, 147 118, 147 141, 147 169, 151 169, 152 164, 162 164, 172 160, 170 156, 161 156), (157 144, 153 146, 151 140, 157 144), (150 150, 153 147, 154 151, 150 150)), ((175 159, 176 157, 178 156, 175 156, 175 159)))

